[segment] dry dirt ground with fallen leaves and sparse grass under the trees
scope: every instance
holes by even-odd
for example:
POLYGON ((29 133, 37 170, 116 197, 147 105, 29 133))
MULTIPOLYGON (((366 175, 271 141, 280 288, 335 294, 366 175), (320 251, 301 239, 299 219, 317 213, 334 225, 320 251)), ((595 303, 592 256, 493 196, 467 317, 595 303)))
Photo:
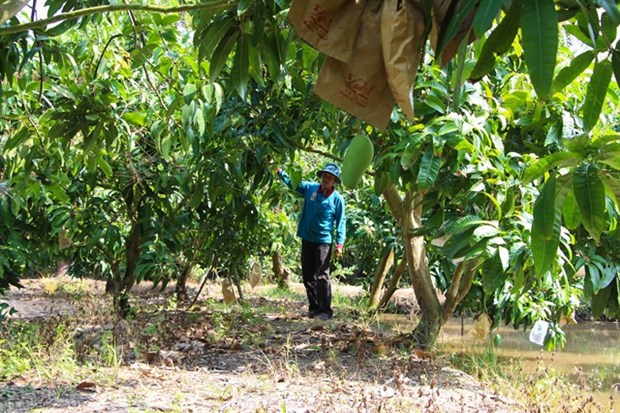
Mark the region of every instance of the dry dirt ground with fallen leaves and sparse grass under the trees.
MULTIPOLYGON (((14 317, 24 320, 79 318, 85 302, 109 306, 100 284, 79 302, 50 295, 41 280, 25 284, 8 297, 19 310, 14 317)), ((203 295, 221 301, 218 288, 203 295)), ((102 310, 102 323, 89 317, 75 327, 79 370, 39 370, 0 382, 0 412, 527 411, 432 354, 412 350, 405 337, 356 322, 354 314, 309 319, 303 301, 286 299, 273 303, 284 310, 260 319, 238 304, 218 312, 204 301, 192 311, 149 311, 162 295, 143 288, 136 297, 148 304, 129 321, 110 324, 102 310), (231 334, 216 337, 221 325, 233 326, 231 334), (106 333, 122 362, 96 367, 93 354, 101 354, 106 333)), ((249 308, 272 304, 255 293, 246 300, 249 308)))

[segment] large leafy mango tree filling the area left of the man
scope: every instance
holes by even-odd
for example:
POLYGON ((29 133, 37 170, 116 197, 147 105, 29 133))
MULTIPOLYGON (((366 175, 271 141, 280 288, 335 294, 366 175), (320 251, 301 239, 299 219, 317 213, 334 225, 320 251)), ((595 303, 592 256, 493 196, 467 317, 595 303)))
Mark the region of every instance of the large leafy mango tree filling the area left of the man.
POLYGON ((205 67, 184 56, 187 38, 177 37, 178 16, 91 23, 82 34, 100 41, 84 42, 78 32, 65 33, 62 44, 46 38, 38 43, 42 65, 27 65, 32 77, 5 90, 10 243, 2 279, 16 284, 26 265, 43 268, 27 252, 40 250, 52 265, 70 262, 72 274, 106 279, 126 314, 140 280, 165 286, 177 274, 185 280, 195 264, 237 277, 254 245, 254 191, 270 175, 263 143, 248 132, 252 114, 242 105, 233 115, 234 99, 223 102, 219 84, 203 84, 205 67), (27 222, 37 226, 26 230, 27 222), (35 244, 33 232, 45 243, 35 244))

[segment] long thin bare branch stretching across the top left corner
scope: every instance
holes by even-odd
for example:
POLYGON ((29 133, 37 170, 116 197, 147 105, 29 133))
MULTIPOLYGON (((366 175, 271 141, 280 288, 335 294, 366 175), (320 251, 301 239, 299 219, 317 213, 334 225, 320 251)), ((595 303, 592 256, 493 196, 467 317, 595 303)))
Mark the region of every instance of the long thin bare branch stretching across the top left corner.
POLYGON ((91 16, 93 14, 116 13, 124 11, 146 11, 151 13, 173 14, 192 10, 212 10, 221 11, 234 6, 231 0, 212 0, 200 4, 184 4, 176 7, 149 6, 145 4, 113 4, 107 6, 87 7, 85 9, 73 10, 67 13, 57 14, 47 19, 37 20, 29 23, 17 24, 0 28, 0 36, 7 34, 20 33, 28 30, 43 29, 49 24, 63 22, 65 20, 77 19, 78 17, 91 16))

